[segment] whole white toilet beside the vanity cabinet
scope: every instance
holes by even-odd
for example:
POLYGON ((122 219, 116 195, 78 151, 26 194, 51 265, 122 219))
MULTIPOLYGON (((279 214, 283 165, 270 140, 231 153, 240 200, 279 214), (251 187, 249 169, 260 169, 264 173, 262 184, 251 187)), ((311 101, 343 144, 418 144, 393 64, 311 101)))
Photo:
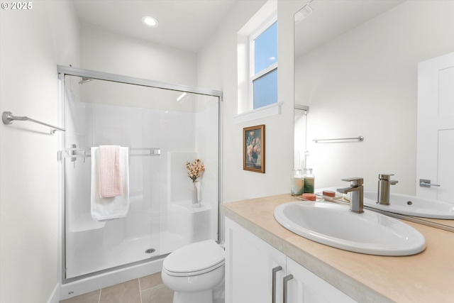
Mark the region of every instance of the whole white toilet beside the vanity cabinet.
POLYGON ((174 290, 173 303, 223 302, 224 263, 225 252, 216 241, 192 243, 167 255, 162 282, 174 290))

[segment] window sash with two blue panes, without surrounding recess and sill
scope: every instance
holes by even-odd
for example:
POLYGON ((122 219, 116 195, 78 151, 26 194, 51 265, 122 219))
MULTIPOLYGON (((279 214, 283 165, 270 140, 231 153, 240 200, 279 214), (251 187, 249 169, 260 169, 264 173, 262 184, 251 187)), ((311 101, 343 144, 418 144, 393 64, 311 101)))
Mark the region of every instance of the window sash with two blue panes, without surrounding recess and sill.
POLYGON ((277 103, 277 21, 272 18, 250 37, 253 109, 277 103))

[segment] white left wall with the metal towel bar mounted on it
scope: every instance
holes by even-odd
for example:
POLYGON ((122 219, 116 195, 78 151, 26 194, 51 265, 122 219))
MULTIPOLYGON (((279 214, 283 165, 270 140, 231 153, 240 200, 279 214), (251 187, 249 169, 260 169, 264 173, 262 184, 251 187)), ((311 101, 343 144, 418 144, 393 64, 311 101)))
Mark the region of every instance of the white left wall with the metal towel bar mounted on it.
MULTIPOLYGON (((57 65, 77 65, 68 1, 0 11, 0 111, 57 125, 57 65)), ((58 299, 57 138, 31 122, 0 124, 0 302, 58 299)))

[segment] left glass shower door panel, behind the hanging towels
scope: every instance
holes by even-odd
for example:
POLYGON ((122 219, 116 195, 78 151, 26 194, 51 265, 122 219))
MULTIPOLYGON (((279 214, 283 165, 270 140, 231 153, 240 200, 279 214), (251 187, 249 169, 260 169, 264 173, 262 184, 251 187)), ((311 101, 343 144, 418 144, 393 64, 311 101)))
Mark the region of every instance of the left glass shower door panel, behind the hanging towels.
POLYGON ((160 136, 153 125, 160 113, 123 105, 121 94, 111 94, 143 87, 66 78, 65 276, 71 279, 160 254, 160 136), (92 218, 91 148, 100 145, 128 148, 129 206, 122 218, 92 218))

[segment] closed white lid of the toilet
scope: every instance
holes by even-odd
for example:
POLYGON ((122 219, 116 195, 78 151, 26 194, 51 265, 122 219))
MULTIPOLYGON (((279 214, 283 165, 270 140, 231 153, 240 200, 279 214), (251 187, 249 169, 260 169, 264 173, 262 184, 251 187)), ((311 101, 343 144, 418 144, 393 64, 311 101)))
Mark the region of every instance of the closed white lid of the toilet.
POLYGON ((214 240, 189 244, 175 250, 162 264, 167 272, 199 272, 223 263, 225 252, 214 240))

